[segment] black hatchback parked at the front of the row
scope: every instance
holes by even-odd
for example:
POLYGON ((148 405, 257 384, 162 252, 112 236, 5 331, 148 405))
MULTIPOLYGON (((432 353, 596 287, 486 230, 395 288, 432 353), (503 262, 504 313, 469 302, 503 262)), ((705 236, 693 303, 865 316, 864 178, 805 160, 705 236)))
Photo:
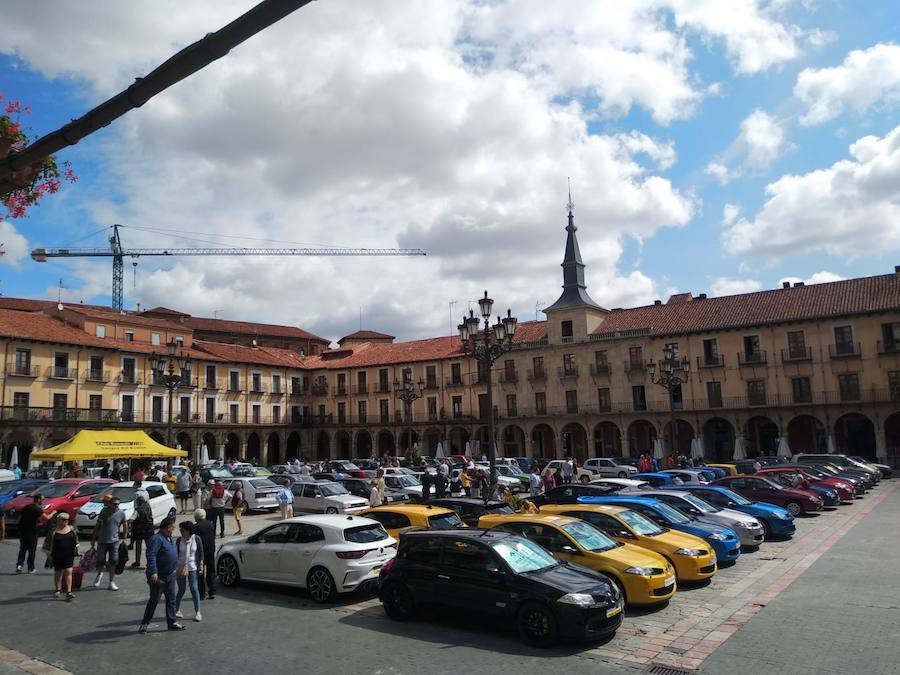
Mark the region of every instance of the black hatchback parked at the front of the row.
POLYGON ((602 574, 559 561, 524 537, 478 529, 405 532, 381 568, 378 598, 396 621, 431 604, 511 619, 525 642, 540 647, 608 637, 624 606, 602 574))

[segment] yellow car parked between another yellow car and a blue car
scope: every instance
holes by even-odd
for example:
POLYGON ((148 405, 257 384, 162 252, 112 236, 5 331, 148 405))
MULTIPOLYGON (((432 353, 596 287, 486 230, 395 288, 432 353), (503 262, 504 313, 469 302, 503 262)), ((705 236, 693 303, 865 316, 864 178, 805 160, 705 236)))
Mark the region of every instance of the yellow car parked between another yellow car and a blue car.
POLYGON ((541 512, 581 518, 616 541, 659 553, 675 568, 679 582, 705 581, 718 570, 716 554, 705 541, 660 527, 632 509, 611 504, 558 504, 544 506, 541 512))

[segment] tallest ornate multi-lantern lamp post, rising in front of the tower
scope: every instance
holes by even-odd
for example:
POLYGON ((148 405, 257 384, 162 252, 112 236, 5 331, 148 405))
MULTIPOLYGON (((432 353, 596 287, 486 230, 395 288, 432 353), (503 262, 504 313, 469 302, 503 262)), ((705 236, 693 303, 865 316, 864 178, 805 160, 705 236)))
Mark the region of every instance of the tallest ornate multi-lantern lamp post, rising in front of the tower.
POLYGON ((484 328, 481 328, 481 321, 473 314, 472 310, 469 310, 469 316, 463 316, 463 322, 457 326, 459 337, 462 339, 463 353, 475 359, 487 384, 487 409, 490 418, 488 422, 488 459, 491 463, 492 485, 497 480, 497 471, 495 467, 494 388, 491 382, 491 367, 497 359, 512 349, 512 339, 516 334, 516 324, 518 323, 518 319, 512 315, 512 310, 507 309, 506 316, 502 319, 498 316, 497 323, 491 326, 493 307, 494 301, 488 297, 487 291, 485 291, 484 297, 478 301, 478 308, 484 319, 484 328))

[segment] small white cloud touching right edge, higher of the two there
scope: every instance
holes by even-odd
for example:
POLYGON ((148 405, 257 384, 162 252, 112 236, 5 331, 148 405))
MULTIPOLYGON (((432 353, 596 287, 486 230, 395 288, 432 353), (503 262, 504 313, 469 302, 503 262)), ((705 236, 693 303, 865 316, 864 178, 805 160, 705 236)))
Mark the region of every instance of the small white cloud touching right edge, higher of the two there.
POLYGON ((797 76, 796 96, 806 107, 801 124, 814 126, 849 111, 864 113, 900 102, 900 45, 857 49, 833 68, 806 68, 797 76))

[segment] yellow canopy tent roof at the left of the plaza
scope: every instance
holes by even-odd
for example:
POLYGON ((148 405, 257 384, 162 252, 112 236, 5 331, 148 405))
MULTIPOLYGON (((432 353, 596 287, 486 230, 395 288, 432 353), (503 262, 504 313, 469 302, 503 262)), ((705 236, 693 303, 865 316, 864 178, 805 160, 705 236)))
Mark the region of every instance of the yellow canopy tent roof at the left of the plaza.
POLYGON ((32 462, 83 462, 91 459, 137 459, 139 457, 187 457, 186 450, 176 450, 157 443, 143 431, 79 431, 68 441, 29 455, 32 462))

